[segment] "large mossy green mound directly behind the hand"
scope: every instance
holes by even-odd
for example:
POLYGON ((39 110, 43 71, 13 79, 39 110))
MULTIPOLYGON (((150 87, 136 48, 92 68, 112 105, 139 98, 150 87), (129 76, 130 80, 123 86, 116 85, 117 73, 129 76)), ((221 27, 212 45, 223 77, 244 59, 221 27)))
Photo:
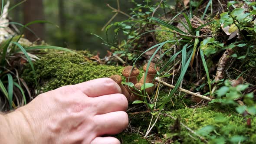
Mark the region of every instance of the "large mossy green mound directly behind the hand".
MULTIPOLYGON (((73 85, 115 74, 120 75, 122 71, 121 66, 97 65, 96 63, 88 62, 83 56, 68 52, 47 54, 34 62, 34 67, 36 69, 36 78, 39 80, 39 89, 43 92, 64 85, 73 85)), ((29 85, 36 85, 29 65, 26 66, 22 76, 29 85)))

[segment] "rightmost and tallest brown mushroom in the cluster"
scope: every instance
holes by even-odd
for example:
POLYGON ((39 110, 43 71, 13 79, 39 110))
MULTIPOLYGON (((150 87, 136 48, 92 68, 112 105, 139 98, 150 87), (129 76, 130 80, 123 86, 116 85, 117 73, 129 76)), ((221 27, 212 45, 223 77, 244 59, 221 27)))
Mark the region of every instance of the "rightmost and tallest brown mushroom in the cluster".
MULTIPOLYGON (((147 66, 148 66, 148 63, 146 63, 143 66, 144 72, 146 72, 147 66)), ((157 71, 159 71, 159 67, 157 67, 155 69, 155 63, 151 62, 150 65, 149 65, 149 68, 148 68, 148 74, 147 74, 146 82, 145 83, 152 83, 152 84, 155 85, 154 77, 157 74, 157 71)), ((143 84, 144 83, 144 79, 145 79, 145 74, 141 77, 139 83, 143 84)), ((155 89, 155 86, 152 86, 150 88, 146 88, 146 91, 147 91, 148 95, 153 95, 154 89, 155 89)))

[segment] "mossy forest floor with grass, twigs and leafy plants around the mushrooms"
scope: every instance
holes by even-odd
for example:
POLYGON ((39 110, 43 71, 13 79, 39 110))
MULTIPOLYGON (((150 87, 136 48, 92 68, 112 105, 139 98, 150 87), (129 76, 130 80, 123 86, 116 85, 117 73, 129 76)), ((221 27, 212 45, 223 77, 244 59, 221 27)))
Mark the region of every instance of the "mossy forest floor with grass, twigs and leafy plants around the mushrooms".
MULTIPOLYGON (((24 86, 32 88, 27 99, 63 85, 121 75, 127 65, 140 70, 139 80, 148 74, 143 65, 154 62, 159 67, 154 94, 142 88, 144 97, 130 102, 129 126, 116 135, 123 144, 252 144, 256 141, 254 1, 182 0, 167 6, 161 0, 151 8, 138 4, 129 20, 106 27, 115 27, 116 36, 113 42, 102 39, 112 49, 104 59, 88 51, 31 52, 36 56, 33 68, 29 62, 21 69, 24 86), (158 10, 164 14, 157 16, 158 10), (120 33, 128 38, 118 39, 120 33)), ((19 64, 26 60, 19 59, 19 64)))

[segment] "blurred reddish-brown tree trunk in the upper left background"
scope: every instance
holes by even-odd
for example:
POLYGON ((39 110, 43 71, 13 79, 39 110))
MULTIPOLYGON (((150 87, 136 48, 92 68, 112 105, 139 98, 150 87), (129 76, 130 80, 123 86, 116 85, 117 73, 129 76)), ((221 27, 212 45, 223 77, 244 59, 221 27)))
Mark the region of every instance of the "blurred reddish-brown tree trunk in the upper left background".
MULTIPOLYGON (((34 20, 45 20, 44 9, 43 9, 43 0, 26 0, 24 3, 24 23, 30 23, 34 20)), ((36 23, 30 25, 29 28, 36 34, 36 37, 29 30, 25 30, 26 39, 34 42, 36 39, 45 38, 45 24, 36 23)))

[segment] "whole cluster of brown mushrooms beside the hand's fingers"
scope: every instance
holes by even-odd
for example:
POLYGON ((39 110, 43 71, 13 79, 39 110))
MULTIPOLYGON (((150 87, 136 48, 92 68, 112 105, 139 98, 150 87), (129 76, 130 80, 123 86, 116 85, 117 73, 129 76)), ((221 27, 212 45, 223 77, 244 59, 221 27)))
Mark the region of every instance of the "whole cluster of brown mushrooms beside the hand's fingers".
MULTIPOLYGON (((148 67, 148 63, 146 63, 143 66, 144 72, 146 72, 148 68, 148 73, 145 77, 145 73, 141 77, 141 79, 138 81, 137 77, 140 74, 140 71, 132 66, 126 66, 122 72, 122 75, 125 76, 126 82, 131 82, 134 84, 134 87, 137 88, 138 90, 141 90, 141 86, 144 83, 152 83, 154 84, 153 87, 146 88, 146 92, 148 95, 153 95, 154 89, 155 89, 155 75, 157 74, 157 71, 159 71, 159 68, 155 68, 155 63, 151 62, 148 67)), ((136 101, 136 100, 141 100, 141 97, 138 95, 138 92, 132 88, 129 87, 128 85, 123 85, 121 84, 122 78, 120 75, 112 75, 110 76, 111 79, 113 79, 121 88, 122 94, 125 95, 128 101, 136 101)))

